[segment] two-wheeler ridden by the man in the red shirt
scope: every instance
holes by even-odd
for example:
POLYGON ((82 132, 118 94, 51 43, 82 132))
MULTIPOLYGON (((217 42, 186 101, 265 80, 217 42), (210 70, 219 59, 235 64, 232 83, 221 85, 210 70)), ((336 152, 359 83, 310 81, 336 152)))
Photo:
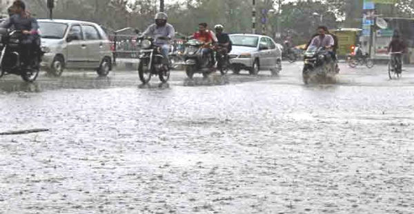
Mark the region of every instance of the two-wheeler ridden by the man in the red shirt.
MULTIPOLYGON (((210 53, 203 54, 203 48, 210 48, 197 39, 191 39, 186 43, 184 50, 184 67, 189 79, 193 79, 195 73, 201 73, 203 77, 208 77, 212 72, 215 72, 213 55, 210 53)), ((213 48, 211 48, 213 51, 213 48)))

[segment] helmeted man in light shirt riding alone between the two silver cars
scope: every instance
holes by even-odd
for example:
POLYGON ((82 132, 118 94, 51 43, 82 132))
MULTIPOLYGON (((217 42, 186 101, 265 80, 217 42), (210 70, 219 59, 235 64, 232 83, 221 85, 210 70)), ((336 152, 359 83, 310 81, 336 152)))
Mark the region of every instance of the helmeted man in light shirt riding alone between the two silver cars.
POLYGON ((161 54, 164 57, 164 64, 170 66, 168 53, 170 52, 169 40, 174 39, 175 29, 172 25, 167 23, 168 15, 165 12, 157 12, 155 14, 155 23, 148 26, 142 34, 146 37, 155 39, 154 44, 161 48, 161 54))

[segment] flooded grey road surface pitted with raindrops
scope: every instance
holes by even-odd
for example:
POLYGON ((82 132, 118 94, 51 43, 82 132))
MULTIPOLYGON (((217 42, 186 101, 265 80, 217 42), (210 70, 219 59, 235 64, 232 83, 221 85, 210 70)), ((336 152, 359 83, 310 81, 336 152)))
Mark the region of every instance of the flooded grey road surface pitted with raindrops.
POLYGON ((413 213, 414 68, 0 80, 0 213, 413 213))

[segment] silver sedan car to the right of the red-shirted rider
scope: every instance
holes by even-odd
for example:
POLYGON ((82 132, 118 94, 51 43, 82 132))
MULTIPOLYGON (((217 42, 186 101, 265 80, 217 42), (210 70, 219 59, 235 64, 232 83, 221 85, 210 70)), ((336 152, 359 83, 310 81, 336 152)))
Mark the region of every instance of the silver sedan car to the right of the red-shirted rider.
POLYGON ((282 70, 282 50, 270 37, 233 34, 230 40, 233 42, 230 64, 235 74, 245 69, 250 75, 257 75, 259 70, 270 70, 277 75, 282 70))

